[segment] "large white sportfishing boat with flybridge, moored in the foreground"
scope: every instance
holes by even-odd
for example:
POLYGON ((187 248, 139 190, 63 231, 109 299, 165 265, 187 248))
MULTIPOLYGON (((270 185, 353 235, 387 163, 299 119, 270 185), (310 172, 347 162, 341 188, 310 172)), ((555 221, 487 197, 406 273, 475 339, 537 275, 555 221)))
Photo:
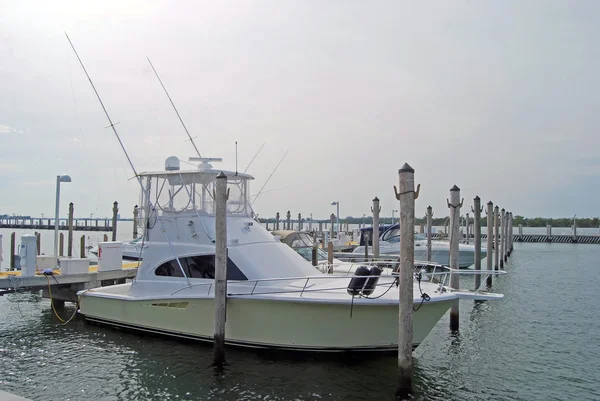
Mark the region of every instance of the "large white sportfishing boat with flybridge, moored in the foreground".
MULTIPOLYGON (((168 160, 164 171, 139 174, 145 237, 137 277, 132 283, 80 292, 80 312, 101 324, 212 341, 213 190, 219 170, 204 162, 198 170, 182 171, 173 165, 176 158, 168 160)), ((253 177, 225 174, 226 343, 305 351, 396 349, 396 277, 380 276, 380 271, 367 267, 368 277, 320 273, 251 218, 248 194, 253 177)), ((502 298, 425 280, 415 280, 413 291, 413 346, 459 298, 502 298)))

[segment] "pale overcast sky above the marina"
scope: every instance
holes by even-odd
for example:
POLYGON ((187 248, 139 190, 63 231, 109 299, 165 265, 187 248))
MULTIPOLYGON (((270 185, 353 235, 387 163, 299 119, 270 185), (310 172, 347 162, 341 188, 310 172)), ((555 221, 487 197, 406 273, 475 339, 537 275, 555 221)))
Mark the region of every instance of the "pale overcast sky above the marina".
MULTIPOLYGON (((408 162, 427 205, 452 185, 525 216, 598 216, 600 2, 12 1, 0 4, 0 214, 130 215, 138 171, 194 151, 243 170, 260 216, 397 209, 408 162)), ((217 164, 215 164, 215 167, 217 164)))

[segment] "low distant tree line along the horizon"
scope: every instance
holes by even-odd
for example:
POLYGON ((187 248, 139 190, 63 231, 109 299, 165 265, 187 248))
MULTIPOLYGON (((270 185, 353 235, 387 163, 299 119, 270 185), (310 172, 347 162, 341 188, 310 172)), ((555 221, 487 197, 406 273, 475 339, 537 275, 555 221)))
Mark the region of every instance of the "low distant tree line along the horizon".
MULTIPOLYGON (((396 216, 395 221, 398 221, 398 217, 396 216)), ((464 219, 464 217, 463 217, 464 219)), ((263 219, 260 218, 259 219, 261 223, 274 223, 275 222, 275 218, 268 218, 268 219, 263 219)), ((285 221, 285 216, 282 216, 279 221, 283 222, 285 221)), ((298 218, 296 216, 296 218, 292 217, 292 221, 297 222, 298 218)), ((302 218, 303 222, 309 222, 310 218, 306 219, 306 218, 302 218)), ((329 223, 330 220, 324 220, 324 219, 313 219, 314 223, 318 223, 318 222, 325 222, 325 223, 329 223)), ((433 226, 444 226, 446 224, 449 224, 450 222, 450 217, 449 216, 445 216, 445 217, 434 217, 432 219, 432 225, 433 226)), ((473 217, 469 216, 469 222, 471 224, 473 224, 473 217)), ((340 223, 346 224, 366 224, 366 225, 371 225, 373 224, 373 217, 372 216, 366 216, 366 217, 352 217, 352 216, 346 216, 345 218, 341 218, 340 219, 340 223)), ((392 224, 392 218, 390 216, 387 217, 380 217, 379 218, 379 224, 392 224)), ((427 218, 425 217, 419 217, 415 219, 415 225, 420 225, 420 224, 427 224, 427 218)), ((464 224, 464 220, 463 220, 463 224, 464 224)), ((571 225, 573 224, 573 218, 572 217, 561 217, 561 218, 548 218, 548 217, 523 217, 523 216, 513 216, 513 227, 518 227, 519 224, 522 224, 523 227, 546 227, 548 224, 551 225, 552 227, 571 227, 571 225)), ((582 228, 589 228, 589 227, 599 227, 600 226, 600 219, 598 217, 582 217, 582 218, 577 218, 576 219, 576 224, 577 227, 582 227, 582 228)), ((483 213, 483 215, 481 216, 481 225, 483 227, 487 226, 487 215, 485 214, 485 212, 483 213)))

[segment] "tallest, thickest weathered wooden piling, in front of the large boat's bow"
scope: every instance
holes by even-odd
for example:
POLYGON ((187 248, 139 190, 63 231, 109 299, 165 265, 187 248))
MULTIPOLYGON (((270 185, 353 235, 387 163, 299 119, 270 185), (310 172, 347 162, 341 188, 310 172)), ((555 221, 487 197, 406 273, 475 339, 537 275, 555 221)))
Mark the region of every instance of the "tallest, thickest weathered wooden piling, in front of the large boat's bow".
MULTIPOLYGON (((415 170, 405 163, 400 170, 400 264, 398 266, 398 382, 396 396, 407 398, 413 387, 413 268, 415 264, 415 170)), ((379 203, 379 202, 378 202, 379 203)), ((379 205, 377 205, 379 206, 379 205)), ((375 233, 375 231, 373 231, 375 233)))

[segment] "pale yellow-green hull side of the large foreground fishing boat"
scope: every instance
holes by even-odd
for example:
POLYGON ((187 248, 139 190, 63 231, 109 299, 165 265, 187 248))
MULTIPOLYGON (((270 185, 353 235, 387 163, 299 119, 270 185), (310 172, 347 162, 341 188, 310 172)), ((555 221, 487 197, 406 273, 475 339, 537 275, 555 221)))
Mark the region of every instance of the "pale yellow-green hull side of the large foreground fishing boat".
MULTIPOLYGON (((419 345, 456 300, 425 302, 414 314, 419 345)), ((213 340, 213 298, 134 300, 83 295, 80 311, 101 324, 201 341, 213 340)), ((297 351, 390 351, 398 344, 398 305, 229 298, 230 345, 297 351)))

